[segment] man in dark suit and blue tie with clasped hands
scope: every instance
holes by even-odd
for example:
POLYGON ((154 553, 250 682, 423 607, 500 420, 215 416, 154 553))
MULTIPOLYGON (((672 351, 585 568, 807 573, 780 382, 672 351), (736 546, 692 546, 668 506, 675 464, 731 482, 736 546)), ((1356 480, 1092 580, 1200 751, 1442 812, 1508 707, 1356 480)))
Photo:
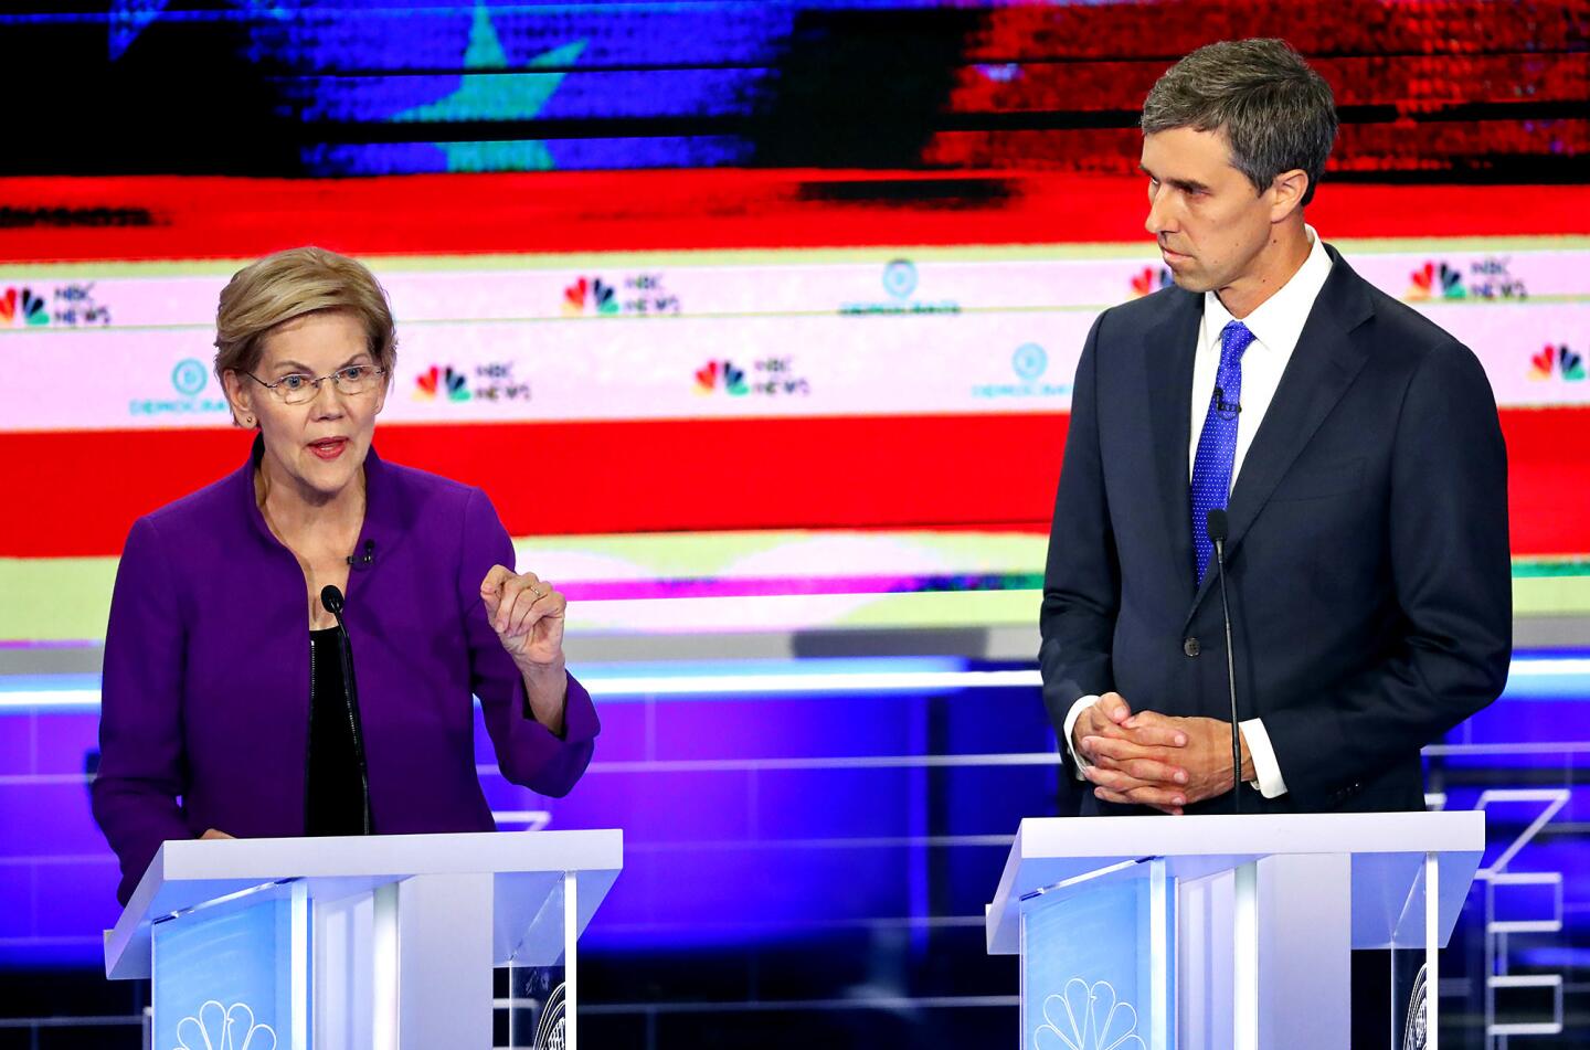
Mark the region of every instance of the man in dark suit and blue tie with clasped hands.
POLYGON ((1510 657, 1506 450, 1474 355, 1304 223, 1336 137, 1283 41, 1202 48, 1143 107, 1175 286, 1076 369, 1043 587, 1043 698, 1083 813, 1420 810, 1420 748, 1510 657))

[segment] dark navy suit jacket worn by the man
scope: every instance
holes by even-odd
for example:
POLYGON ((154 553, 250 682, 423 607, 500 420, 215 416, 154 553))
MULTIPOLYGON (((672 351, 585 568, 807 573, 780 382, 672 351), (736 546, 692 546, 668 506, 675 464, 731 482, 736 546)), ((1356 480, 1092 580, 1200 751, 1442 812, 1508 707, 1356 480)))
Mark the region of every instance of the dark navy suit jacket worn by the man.
MULTIPOLYGON (((1231 492, 1239 721, 1264 719, 1288 788, 1245 784, 1250 813, 1421 810, 1420 748, 1501 694, 1512 651, 1490 382, 1452 336, 1331 261, 1231 492)), ((1212 566, 1194 585, 1188 511, 1202 310, 1165 288, 1102 313, 1083 348, 1040 617, 1057 733, 1078 697, 1110 690, 1231 719, 1218 581, 1212 566)), ((1148 811, 1080 788, 1081 813, 1148 811)))

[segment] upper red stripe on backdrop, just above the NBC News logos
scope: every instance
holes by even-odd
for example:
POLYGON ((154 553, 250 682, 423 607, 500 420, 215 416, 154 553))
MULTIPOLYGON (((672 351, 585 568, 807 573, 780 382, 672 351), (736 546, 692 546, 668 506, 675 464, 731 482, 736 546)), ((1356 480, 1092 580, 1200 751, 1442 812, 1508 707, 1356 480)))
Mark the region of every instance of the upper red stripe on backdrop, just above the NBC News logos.
MULTIPOLYGON (((0 178, 0 261, 1145 242, 1138 178, 642 170, 350 180, 0 178), (935 207, 935 202, 938 207, 935 207)), ((1590 232, 1590 186, 1326 183, 1326 239, 1590 232)))

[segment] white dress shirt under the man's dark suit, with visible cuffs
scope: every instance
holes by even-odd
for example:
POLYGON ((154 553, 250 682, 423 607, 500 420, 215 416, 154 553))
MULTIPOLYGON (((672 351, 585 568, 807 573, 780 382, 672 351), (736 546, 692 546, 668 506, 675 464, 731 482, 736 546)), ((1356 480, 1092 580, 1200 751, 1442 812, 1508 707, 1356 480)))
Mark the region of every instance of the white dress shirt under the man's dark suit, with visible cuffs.
MULTIPOLYGON (((1309 321, 1309 312, 1313 310, 1313 301, 1320 298, 1320 290, 1324 288, 1324 280, 1331 275, 1331 256, 1324 251, 1324 242, 1320 240, 1312 226, 1304 226, 1304 231, 1312 245, 1309 258, 1275 294, 1242 318, 1242 323, 1253 332, 1253 342, 1242 355, 1242 412, 1237 414, 1237 452, 1231 465, 1232 484, 1242 471, 1242 460, 1253 445, 1253 434, 1259 430, 1259 423, 1264 422, 1264 414, 1275 398, 1275 388, 1282 383, 1286 363, 1291 361, 1293 350, 1297 348, 1302 326, 1309 321)), ((1215 396, 1215 375, 1220 371, 1220 334, 1232 320, 1231 310, 1220 301, 1220 296, 1205 291, 1204 321, 1199 326, 1197 350, 1192 356, 1192 404, 1188 409, 1192 418, 1188 442, 1189 479, 1197 460, 1197 439, 1204 431, 1208 402, 1215 396)), ((1191 565, 1188 565, 1188 571, 1192 571, 1191 565)), ((1081 780, 1081 767, 1089 765, 1089 762, 1072 746, 1072 727, 1076 725, 1078 716, 1097 702, 1099 697, 1081 697, 1065 716, 1065 746, 1076 762, 1078 780, 1081 780)), ((1130 703, 1130 697, 1127 703, 1130 703)), ((1248 745, 1248 756, 1253 759, 1253 773, 1258 778, 1255 786, 1266 799, 1286 794, 1286 781, 1282 778, 1282 767, 1275 760, 1275 749, 1264 730, 1264 721, 1247 719, 1240 722, 1240 729, 1242 738, 1248 745)))

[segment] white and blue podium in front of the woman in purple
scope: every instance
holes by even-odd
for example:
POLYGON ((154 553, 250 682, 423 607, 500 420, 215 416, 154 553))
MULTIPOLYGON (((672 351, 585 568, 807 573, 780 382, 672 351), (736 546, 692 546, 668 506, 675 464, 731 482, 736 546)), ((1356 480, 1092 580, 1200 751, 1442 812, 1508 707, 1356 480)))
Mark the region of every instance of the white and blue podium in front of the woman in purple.
POLYGON ((576 940, 623 832, 167 842, 105 975, 153 978, 156 1050, 487 1050, 493 966, 536 967, 572 1050, 576 940))

